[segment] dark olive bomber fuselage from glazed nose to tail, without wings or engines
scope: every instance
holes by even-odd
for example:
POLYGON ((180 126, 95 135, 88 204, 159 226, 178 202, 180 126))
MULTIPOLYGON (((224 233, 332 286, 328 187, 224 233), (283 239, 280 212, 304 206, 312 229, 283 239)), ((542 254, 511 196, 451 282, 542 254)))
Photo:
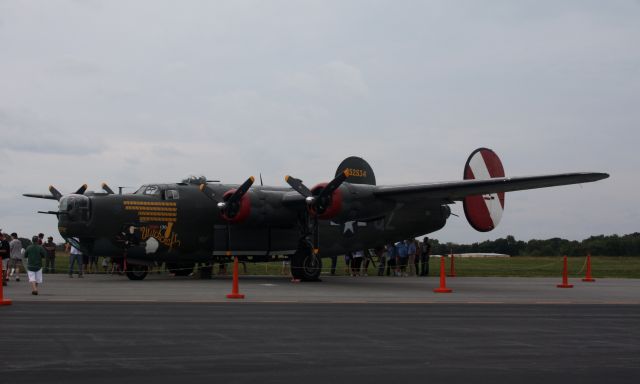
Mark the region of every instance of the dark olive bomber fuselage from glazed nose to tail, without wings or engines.
MULTIPOLYGON (((218 196, 236 187, 209 184, 218 196)), ((59 215, 58 226, 63 237, 80 240, 83 252, 119 258, 126 250, 129 263, 186 265, 220 260, 228 253, 272 261, 294 254, 301 241, 304 210, 287 205, 285 195, 291 193, 289 188, 251 188, 250 212, 240 223, 223 218, 215 200, 196 184, 147 184, 123 195, 68 195, 60 209, 69 213, 59 215)), ((447 206, 428 201, 418 207, 381 199, 375 204, 378 212, 388 214, 363 221, 321 220, 320 256, 430 233, 442 228, 449 216, 447 206)))

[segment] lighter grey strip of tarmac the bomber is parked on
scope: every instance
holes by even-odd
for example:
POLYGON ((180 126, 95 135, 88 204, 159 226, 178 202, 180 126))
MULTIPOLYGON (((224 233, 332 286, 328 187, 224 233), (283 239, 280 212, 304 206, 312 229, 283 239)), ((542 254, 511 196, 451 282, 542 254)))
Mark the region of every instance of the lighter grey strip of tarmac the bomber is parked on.
MULTIPOLYGON (((45 275, 38 296, 29 283, 10 282, 5 296, 16 302, 227 302, 231 277, 199 280, 151 274, 143 281, 119 275, 45 275)), ((430 277, 322 276, 321 283, 292 283, 285 276, 240 276, 246 302, 285 303, 491 303, 491 304, 638 304, 640 279, 570 279, 571 289, 556 285, 561 278, 448 278, 451 294, 433 292, 439 279, 430 277)))

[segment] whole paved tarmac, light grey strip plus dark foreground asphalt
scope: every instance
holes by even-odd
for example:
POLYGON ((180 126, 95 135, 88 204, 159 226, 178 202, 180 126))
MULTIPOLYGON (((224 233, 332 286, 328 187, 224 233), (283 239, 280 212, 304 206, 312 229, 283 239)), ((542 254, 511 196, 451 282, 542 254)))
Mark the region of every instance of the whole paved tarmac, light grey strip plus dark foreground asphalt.
POLYGON ((45 279, 6 291, 0 383, 640 380, 636 280, 45 279))

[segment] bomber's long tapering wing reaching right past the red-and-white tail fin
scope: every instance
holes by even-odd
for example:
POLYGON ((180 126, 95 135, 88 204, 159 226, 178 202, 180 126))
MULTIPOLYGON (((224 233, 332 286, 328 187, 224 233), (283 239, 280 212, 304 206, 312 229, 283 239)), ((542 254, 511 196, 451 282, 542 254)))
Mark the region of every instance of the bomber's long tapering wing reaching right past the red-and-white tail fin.
POLYGON ((497 192, 555 187, 559 185, 590 183, 606 179, 607 173, 562 173, 554 175, 498 177, 486 180, 460 180, 449 182, 379 186, 373 192, 379 197, 420 196, 429 199, 462 200, 465 196, 497 192))

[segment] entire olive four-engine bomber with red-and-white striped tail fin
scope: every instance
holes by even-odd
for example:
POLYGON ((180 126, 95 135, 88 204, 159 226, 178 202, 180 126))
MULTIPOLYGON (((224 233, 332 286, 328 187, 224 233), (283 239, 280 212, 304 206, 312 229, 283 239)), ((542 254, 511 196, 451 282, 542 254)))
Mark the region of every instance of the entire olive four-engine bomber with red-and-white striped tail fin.
POLYGON ((227 185, 191 177, 178 183, 145 184, 116 194, 87 191, 83 185, 55 199, 60 235, 88 254, 110 256, 126 266, 132 280, 166 263, 188 274, 195 263, 212 264, 238 256, 267 262, 290 258, 294 278, 318 280, 322 258, 370 249, 429 234, 444 227, 450 205, 462 202, 471 226, 491 231, 500 222, 505 192, 593 182, 606 173, 565 173, 505 177, 494 151, 479 148, 464 167, 463 180, 376 185, 371 166, 349 157, 335 178, 308 188, 286 176, 290 188, 254 186, 250 177, 227 185))

